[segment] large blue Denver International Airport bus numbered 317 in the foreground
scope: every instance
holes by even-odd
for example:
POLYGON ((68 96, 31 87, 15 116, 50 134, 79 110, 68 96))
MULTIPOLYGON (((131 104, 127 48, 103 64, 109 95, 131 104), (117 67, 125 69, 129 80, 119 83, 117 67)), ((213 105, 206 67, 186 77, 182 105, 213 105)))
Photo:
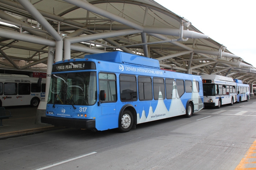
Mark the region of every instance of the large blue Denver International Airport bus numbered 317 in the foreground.
POLYGON ((161 70, 159 61, 124 52, 53 64, 42 123, 128 132, 137 124, 203 109, 201 76, 161 70))

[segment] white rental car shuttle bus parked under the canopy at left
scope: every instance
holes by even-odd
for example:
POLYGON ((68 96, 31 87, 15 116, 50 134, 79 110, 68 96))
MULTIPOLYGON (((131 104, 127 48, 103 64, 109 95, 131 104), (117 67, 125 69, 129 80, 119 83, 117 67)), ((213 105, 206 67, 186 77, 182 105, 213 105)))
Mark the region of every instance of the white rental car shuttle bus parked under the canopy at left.
POLYGON ((38 78, 18 74, 0 74, 0 107, 31 105, 37 107, 45 100, 46 79, 41 85, 38 78))

